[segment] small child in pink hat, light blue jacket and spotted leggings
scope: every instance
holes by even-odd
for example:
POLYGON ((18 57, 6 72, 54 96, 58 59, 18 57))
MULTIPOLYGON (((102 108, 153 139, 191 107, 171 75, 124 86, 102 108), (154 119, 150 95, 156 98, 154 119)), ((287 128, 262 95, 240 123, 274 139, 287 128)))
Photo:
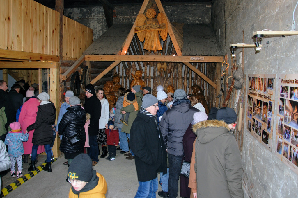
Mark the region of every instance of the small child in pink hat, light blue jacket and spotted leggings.
POLYGON ((4 143, 8 145, 8 155, 12 162, 10 166, 11 177, 15 177, 15 161, 18 163, 17 177, 23 176, 23 160, 24 154, 23 142, 28 141, 29 133, 24 133, 21 129, 20 122, 10 123, 11 131, 7 133, 4 143))

